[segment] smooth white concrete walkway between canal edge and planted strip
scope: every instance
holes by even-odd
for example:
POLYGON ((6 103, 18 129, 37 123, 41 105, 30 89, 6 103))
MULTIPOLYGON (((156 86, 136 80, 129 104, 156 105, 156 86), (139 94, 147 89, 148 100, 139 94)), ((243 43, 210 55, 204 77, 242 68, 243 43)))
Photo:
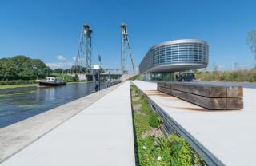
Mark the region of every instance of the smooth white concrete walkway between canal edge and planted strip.
POLYGON ((115 85, 1 165, 135 165, 129 81, 115 85))

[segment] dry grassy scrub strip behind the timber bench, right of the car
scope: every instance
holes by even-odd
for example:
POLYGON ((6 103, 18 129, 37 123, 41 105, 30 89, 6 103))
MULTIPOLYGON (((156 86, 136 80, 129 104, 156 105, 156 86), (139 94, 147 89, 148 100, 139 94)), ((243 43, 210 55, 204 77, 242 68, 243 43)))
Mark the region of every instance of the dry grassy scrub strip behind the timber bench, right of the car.
POLYGON ((237 71, 194 72, 198 81, 256 81, 256 69, 237 71))

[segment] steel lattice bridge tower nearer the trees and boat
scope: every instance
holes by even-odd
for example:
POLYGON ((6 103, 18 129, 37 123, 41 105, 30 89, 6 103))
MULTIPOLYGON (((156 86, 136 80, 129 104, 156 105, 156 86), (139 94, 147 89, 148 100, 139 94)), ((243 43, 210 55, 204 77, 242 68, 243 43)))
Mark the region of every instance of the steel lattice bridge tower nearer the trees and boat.
POLYGON ((78 53, 74 61, 72 73, 91 73, 92 68, 92 46, 91 46, 91 34, 92 30, 88 24, 82 25, 78 43, 78 53))

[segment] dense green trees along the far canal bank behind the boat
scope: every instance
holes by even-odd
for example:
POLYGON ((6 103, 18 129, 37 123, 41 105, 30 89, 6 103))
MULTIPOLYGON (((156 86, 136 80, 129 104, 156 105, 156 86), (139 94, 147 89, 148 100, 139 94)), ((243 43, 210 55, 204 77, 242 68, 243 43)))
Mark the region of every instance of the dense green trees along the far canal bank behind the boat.
POLYGON ((77 75, 73 77, 68 74, 74 69, 80 69, 77 73, 86 71, 79 65, 73 65, 71 69, 50 69, 40 59, 32 59, 23 55, 0 58, 0 85, 34 83, 34 80, 45 77, 63 77, 68 82, 79 81, 77 75))

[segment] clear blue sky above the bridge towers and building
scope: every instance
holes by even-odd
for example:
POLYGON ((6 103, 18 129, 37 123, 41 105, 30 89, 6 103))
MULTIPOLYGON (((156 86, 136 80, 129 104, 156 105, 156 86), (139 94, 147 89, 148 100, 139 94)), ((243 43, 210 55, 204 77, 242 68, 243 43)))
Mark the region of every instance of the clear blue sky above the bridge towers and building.
POLYGON ((23 54, 66 68, 87 22, 94 30, 94 63, 100 53, 103 67, 118 68, 120 23, 126 22, 136 65, 152 45, 198 38, 210 45, 210 68, 230 69, 234 62, 250 68, 246 35, 256 29, 255 6, 253 0, 1 0, 0 57, 23 54))

